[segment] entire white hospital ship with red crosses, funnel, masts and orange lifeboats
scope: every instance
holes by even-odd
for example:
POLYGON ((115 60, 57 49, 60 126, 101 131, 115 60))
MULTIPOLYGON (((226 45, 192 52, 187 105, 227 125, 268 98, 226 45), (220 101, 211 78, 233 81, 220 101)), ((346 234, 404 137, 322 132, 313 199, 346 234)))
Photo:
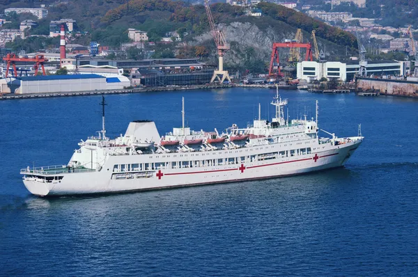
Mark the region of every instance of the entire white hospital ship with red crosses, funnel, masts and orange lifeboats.
MULTIPOLYGON (((271 103, 271 122, 232 125, 219 134, 192 131, 183 125, 160 136, 153 121, 132 121, 124 135, 109 139, 103 124, 99 136, 79 143, 68 164, 23 168, 26 188, 38 196, 116 193, 201 184, 281 177, 343 166, 362 143, 358 136, 318 136, 316 119, 288 120, 287 100, 277 95, 271 103)), ((325 131, 324 131, 325 132, 325 131)))

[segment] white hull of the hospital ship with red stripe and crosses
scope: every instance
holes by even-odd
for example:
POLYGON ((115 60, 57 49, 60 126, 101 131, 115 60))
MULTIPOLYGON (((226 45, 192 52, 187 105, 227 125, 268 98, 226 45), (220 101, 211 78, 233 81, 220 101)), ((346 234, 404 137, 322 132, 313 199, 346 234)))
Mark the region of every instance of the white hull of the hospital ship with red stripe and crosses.
POLYGON ((279 155, 279 152, 288 149, 289 143, 199 153, 111 156, 100 171, 60 172, 49 174, 49 180, 31 176, 29 170, 24 177, 24 185, 37 196, 65 196, 167 189, 298 175, 343 166, 362 143, 363 138, 349 139, 347 143, 340 145, 305 141, 306 145, 303 147, 311 148, 310 153, 296 153, 292 156, 290 151, 286 151, 287 157, 279 155), (252 159, 253 157, 256 158, 252 159), (221 159, 223 163, 219 162, 218 165, 221 159), (113 170, 115 164, 144 164, 149 161, 164 161, 166 166, 147 168, 146 171, 113 170), (188 164, 183 165, 183 168, 177 168, 171 164, 174 161, 185 161, 188 164), (193 166, 194 161, 208 163, 193 166), (54 180, 50 180, 51 177, 54 177, 54 180))

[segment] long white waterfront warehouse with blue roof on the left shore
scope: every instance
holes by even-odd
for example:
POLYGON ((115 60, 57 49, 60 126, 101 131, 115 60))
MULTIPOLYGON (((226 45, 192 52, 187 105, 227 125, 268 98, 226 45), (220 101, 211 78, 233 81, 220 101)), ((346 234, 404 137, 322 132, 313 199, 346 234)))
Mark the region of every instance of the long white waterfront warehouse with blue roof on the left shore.
POLYGON ((123 89, 130 86, 127 77, 106 78, 97 74, 46 75, 22 77, 16 93, 58 93, 123 89))

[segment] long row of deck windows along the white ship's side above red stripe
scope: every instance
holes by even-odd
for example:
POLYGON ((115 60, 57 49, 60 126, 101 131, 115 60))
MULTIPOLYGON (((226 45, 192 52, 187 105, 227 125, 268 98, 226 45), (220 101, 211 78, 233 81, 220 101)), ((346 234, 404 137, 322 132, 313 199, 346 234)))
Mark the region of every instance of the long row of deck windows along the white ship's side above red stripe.
POLYGON ((167 168, 198 168, 205 166, 226 166, 229 164, 243 164, 254 161, 265 161, 268 159, 278 159, 283 157, 294 157, 308 154, 311 154, 311 148, 300 148, 295 150, 286 150, 280 152, 271 152, 260 155, 249 155, 233 158, 205 159, 199 161, 162 161, 142 164, 115 164, 113 172, 155 171, 158 169, 167 168))

